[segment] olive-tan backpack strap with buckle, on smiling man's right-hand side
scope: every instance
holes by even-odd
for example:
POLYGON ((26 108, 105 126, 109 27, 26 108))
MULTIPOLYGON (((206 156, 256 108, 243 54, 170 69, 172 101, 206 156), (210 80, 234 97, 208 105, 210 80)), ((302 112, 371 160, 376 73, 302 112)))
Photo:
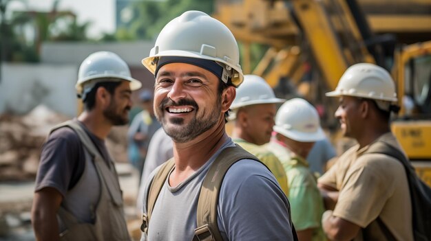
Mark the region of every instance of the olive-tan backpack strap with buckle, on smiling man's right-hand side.
POLYGON ((217 224, 217 205, 220 187, 227 170, 229 170, 231 165, 242 159, 252 159, 260 162, 257 157, 236 145, 235 147, 222 150, 211 164, 200 188, 196 215, 198 228, 195 229, 193 241, 222 240, 217 224))

